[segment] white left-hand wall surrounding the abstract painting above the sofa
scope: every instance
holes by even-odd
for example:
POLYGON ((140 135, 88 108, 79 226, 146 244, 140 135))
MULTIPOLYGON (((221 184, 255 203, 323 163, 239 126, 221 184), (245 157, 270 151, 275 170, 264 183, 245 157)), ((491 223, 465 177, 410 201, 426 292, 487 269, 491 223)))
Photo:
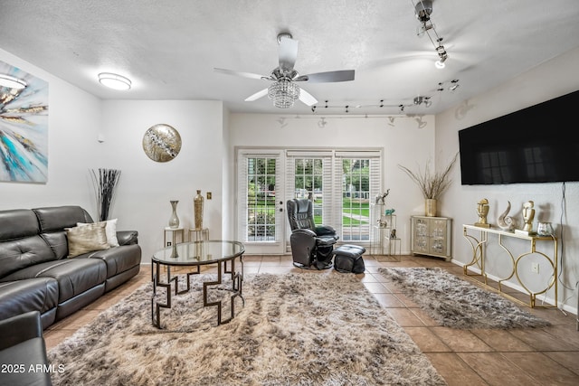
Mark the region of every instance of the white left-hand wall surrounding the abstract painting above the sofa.
POLYGON ((100 99, 3 50, 0 60, 49 84, 48 181, 0 182, 0 210, 78 204, 96 211, 89 169, 98 159, 100 99))

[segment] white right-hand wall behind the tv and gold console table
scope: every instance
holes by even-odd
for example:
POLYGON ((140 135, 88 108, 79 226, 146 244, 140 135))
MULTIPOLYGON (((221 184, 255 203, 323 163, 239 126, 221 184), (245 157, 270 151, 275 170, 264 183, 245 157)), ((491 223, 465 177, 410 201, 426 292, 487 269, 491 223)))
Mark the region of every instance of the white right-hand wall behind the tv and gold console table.
MULTIPOLYGON (((440 157, 449 156, 459 149, 458 131, 492 118, 497 118, 527 108, 537 103, 553 99, 566 93, 579 89, 579 78, 576 69, 579 68, 579 50, 574 50, 554 60, 547 61, 533 71, 520 75, 517 79, 509 81, 497 89, 479 95, 477 98, 468 100, 456 108, 451 108, 436 116, 436 149, 440 157)), ((468 85, 463 85, 468 87, 468 85)), ((569 114, 573 121, 573 111, 561 111, 561 114, 569 114)), ((574 125, 576 126, 576 125, 574 125)), ((574 135, 574 126, 569 127, 569 135, 574 135)), ((546 130, 546 136, 548 129, 546 130)), ((442 200, 443 212, 447 212, 454 218, 453 230, 453 259, 455 262, 464 264, 470 262, 472 250, 470 244, 462 237, 462 224, 472 224, 477 221, 477 202, 482 198, 489 200, 489 222, 497 223, 497 217, 507 208, 511 202, 509 215, 522 222, 521 208, 523 202, 532 200, 535 202, 536 221, 551 221, 557 230, 558 236, 563 236, 564 248, 559 244, 559 256, 561 259, 561 274, 559 282, 559 301, 566 299, 566 304, 576 313, 576 282, 579 280, 579 260, 576 259, 579 241, 579 183, 565 184, 565 207, 562 212, 563 184, 506 184, 506 185, 460 185, 460 167, 455 168, 451 189, 442 200), (562 220, 562 221, 561 221, 562 220)), ((490 238, 489 238, 490 240, 490 238)), ((496 239, 492 239, 496 244, 496 239)), ((520 240, 508 240, 508 247, 513 249, 515 257, 527 251, 530 246, 520 240)), ((553 255, 551 245, 537 244, 537 249, 542 249, 553 255)), ((504 251, 496 246, 489 247, 487 251, 487 269, 491 275, 504 278, 505 272, 510 272, 510 258, 504 251)), ((546 287, 548 267, 546 260, 540 262, 542 267, 539 275, 530 273, 530 259, 519 270, 529 287, 546 287), (528 263, 528 264, 527 264, 528 263)), ((510 280, 515 283, 514 279, 510 280)), ((554 297, 554 292, 549 291, 549 298, 554 297)))

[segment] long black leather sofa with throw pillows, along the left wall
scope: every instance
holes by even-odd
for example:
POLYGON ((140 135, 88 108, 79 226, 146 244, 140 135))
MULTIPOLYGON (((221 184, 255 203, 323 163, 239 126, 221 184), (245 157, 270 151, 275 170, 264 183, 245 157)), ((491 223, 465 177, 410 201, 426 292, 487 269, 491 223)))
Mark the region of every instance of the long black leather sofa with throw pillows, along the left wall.
POLYGON ((0 211, 0 320, 38 311, 45 329, 138 274, 137 231, 68 258, 65 228, 78 222, 93 222, 80 206, 0 211))

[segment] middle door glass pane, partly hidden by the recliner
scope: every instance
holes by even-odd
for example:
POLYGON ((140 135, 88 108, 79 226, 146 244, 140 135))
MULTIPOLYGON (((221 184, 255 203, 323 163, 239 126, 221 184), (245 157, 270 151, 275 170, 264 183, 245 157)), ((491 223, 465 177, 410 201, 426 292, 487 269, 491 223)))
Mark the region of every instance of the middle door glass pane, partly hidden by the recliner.
POLYGON ((314 204, 314 222, 322 224, 322 175, 323 162, 320 158, 295 158, 294 197, 308 198, 314 204))

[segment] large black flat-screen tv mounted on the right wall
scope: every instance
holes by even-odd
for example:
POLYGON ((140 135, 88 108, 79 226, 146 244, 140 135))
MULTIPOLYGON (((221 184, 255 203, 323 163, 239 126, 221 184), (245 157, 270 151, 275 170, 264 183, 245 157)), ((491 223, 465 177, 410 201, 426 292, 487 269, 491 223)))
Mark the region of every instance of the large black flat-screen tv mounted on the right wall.
POLYGON ((459 131, 463 185, 579 181, 579 91, 459 131))

